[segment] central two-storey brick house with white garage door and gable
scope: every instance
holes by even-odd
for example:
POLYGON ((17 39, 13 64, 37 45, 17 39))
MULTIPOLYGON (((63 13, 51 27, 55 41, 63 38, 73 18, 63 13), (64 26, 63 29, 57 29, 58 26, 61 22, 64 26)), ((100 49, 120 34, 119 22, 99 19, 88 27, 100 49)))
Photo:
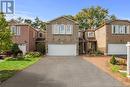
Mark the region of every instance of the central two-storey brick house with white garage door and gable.
POLYGON ((59 17, 47 23, 46 47, 49 56, 76 56, 79 54, 78 24, 59 17))

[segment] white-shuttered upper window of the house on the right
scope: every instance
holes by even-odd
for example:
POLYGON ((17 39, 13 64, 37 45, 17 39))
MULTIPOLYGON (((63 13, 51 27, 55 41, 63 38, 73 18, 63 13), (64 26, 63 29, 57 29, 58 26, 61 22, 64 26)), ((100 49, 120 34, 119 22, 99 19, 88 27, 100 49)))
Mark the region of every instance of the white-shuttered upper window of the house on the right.
POLYGON ((130 34, 130 28, 126 25, 112 25, 112 34, 130 34))

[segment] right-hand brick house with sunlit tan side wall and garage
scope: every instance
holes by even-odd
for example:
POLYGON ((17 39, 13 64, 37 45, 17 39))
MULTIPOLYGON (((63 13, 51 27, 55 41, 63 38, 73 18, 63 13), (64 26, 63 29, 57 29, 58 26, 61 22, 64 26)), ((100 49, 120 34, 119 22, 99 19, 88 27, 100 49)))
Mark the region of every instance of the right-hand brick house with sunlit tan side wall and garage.
POLYGON ((97 49, 105 55, 126 55, 126 43, 130 42, 130 21, 106 22, 95 30, 97 49))

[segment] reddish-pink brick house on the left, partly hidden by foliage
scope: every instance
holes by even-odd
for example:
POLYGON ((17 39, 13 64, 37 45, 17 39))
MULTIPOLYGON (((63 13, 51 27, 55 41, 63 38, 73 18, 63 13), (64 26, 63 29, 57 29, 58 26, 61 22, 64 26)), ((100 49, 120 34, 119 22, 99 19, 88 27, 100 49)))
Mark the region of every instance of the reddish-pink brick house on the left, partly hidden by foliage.
POLYGON ((35 41, 38 33, 37 30, 28 24, 18 23, 13 19, 9 22, 9 26, 13 33, 13 43, 17 43, 24 54, 36 50, 35 41))

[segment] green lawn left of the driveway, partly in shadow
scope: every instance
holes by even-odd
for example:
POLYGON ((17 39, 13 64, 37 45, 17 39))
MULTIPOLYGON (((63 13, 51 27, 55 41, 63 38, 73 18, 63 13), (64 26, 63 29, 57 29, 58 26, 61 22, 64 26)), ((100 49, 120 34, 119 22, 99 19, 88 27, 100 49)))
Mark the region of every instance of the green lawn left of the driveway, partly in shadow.
POLYGON ((6 59, 3 62, 0 62, 0 81, 5 81, 12 77, 16 72, 27 68, 39 59, 40 58, 6 59))

